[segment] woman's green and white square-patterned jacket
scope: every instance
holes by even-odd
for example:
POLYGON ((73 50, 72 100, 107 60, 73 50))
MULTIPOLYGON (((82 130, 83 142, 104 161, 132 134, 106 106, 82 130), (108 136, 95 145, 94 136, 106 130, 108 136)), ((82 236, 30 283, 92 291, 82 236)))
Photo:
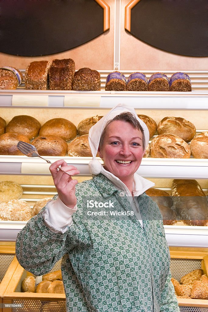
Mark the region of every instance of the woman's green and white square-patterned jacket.
MULTIPOLYGON (((16 256, 27 271, 46 274, 62 258, 67 312, 178 312, 162 217, 145 193, 135 216, 84 217, 86 202, 111 198, 117 211, 130 202, 103 174, 76 185, 77 212, 64 233, 44 222, 47 207, 17 236, 16 256)), ((56 197, 54 197, 56 199, 56 197)))

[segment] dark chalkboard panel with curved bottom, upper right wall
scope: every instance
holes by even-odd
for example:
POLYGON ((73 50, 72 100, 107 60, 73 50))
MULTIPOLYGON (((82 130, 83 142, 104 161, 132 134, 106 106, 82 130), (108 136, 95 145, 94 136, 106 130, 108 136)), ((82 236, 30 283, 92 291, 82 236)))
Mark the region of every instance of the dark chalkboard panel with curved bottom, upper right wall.
POLYGON ((207 0, 140 0, 130 32, 165 51, 208 56, 207 0))

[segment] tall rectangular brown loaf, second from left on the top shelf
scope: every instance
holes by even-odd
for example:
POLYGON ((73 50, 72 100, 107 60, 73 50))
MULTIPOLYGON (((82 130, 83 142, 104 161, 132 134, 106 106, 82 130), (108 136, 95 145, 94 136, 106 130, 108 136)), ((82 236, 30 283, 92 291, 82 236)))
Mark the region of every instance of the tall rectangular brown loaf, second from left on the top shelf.
POLYGON ((50 61, 33 61, 28 64, 25 71, 25 89, 48 90, 48 70, 50 67, 50 61))

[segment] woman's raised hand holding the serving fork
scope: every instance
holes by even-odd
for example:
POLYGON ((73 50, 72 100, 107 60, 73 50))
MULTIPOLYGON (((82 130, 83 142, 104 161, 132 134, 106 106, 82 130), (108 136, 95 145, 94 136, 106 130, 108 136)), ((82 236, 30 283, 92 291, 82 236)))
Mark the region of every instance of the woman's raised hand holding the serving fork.
POLYGON ((52 165, 49 167, 60 200, 66 206, 73 209, 77 201, 75 196, 75 185, 78 183, 78 181, 73 180, 70 175, 63 172, 62 170, 58 170, 59 166, 61 166, 62 170, 68 172, 71 176, 79 174, 80 172, 76 167, 72 165, 68 166, 63 159, 55 161, 55 163, 52 163, 52 165))

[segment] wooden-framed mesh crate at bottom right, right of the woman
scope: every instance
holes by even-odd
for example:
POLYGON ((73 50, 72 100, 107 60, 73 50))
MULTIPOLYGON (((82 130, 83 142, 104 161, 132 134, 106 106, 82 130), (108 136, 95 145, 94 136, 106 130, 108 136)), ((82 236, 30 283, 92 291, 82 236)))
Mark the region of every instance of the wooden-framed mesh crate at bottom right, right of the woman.
MULTIPOLYGON (((193 270, 208 274, 208 249, 170 248, 171 274, 176 280, 193 270)), ((178 298, 180 312, 208 312, 208 300, 178 298)))

